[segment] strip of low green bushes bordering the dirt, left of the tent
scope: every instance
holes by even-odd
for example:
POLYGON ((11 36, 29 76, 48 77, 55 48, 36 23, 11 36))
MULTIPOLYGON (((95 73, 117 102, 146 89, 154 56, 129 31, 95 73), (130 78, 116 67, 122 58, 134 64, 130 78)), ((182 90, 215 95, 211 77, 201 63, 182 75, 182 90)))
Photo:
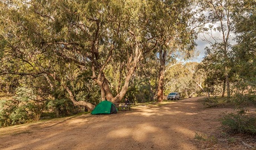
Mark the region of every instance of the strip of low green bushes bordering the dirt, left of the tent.
POLYGON ((53 119, 85 113, 84 107, 73 106, 68 99, 36 103, 24 99, 0 101, 0 127, 24 124, 42 119, 53 119))

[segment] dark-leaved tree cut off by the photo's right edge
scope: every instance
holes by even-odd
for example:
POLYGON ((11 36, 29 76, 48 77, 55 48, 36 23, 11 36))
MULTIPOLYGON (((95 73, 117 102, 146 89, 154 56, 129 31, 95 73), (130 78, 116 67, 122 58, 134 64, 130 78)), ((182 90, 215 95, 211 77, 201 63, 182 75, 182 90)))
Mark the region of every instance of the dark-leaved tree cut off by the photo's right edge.
POLYGON ((235 13, 235 32, 238 34, 237 45, 234 47, 235 61, 240 76, 248 79, 255 77, 255 7, 255 1, 240 2, 235 13))

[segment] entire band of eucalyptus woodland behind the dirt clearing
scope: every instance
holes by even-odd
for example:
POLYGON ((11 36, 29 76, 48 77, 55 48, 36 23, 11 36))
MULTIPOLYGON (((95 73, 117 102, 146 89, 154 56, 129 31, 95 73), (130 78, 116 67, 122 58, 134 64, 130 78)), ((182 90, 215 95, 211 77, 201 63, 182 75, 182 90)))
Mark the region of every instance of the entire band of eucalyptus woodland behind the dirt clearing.
POLYGON ((255 104, 256 2, 0 2, 0 127, 91 111, 107 99, 225 97, 255 104), (215 36, 213 33, 219 33, 215 36), (198 35, 209 43, 201 62, 198 35))

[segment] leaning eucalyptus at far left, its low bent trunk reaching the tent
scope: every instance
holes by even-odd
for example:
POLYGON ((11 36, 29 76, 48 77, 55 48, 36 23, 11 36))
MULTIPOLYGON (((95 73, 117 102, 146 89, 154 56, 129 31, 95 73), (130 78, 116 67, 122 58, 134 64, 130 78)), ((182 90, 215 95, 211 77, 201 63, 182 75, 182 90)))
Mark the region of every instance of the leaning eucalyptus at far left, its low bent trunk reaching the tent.
MULTIPOLYGON (((47 6, 43 1, 41 4, 47 6)), ((58 55, 66 46, 76 43, 60 39, 59 20, 48 15, 48 12, 43 15, 40 9, 36 9, 40 7, 36 1, 4 1, 1 5, 1 74, 44 77, 45 84, 52 90, 50 94, 54 94, 58 90, 56 88, 64 87, 75 105, 92 109, 91 103, 76 101, 68 87, 68 75, 78 71, 77 65, 66 63, 58 55)), ((43 11, 48 11, 47 7, 43 11)))

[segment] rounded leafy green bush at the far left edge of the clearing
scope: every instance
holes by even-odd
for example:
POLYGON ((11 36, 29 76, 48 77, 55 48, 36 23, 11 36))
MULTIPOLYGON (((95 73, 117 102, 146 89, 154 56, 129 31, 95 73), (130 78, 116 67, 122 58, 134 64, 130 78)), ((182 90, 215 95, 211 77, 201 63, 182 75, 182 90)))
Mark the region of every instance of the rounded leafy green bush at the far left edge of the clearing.
POLYGON ((17 88, 13 99, 0 101, 0 126, 38 121, 45 110, 45 102, 33 101, 32 98, 35 95, 31 89, 17 88))

